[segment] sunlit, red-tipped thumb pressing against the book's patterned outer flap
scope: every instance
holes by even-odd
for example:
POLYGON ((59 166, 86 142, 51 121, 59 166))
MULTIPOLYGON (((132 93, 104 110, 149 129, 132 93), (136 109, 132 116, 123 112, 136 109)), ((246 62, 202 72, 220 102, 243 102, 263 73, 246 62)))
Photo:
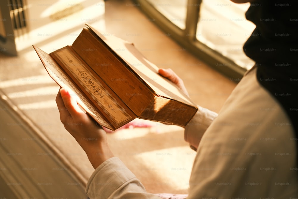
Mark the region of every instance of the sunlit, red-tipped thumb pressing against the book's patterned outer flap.
POLYGON ((64 103, 64 106, 68 110, 69 114, 72 116, 72 118, 78 117, 83 113, 83 111, 80 109, 79 105, 77 104, 77 101, 75 98, 72 98, 69 94, 69 92, 62 88, 60 89, 60 94, 64 103))

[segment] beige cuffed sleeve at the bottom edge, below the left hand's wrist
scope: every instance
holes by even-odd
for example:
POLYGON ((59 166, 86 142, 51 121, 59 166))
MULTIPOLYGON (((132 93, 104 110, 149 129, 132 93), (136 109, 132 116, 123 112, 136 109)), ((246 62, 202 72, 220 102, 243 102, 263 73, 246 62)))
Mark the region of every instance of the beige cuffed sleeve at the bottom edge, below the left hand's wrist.
POLYGON ((113 157, 95 169, 86 186, 89 198, 160 199, 145 187, 122 161, 113 157))

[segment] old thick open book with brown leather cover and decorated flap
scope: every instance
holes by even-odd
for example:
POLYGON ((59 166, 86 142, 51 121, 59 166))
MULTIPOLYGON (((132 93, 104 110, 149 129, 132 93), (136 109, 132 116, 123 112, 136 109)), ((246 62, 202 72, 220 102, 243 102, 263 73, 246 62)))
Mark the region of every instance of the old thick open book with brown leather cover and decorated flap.
POLYGON ((185 126, 198 110, 132 43, 89 24, 72 46, 50 54, 33 47, 49 75, 108 129, 135 118, 185 126))

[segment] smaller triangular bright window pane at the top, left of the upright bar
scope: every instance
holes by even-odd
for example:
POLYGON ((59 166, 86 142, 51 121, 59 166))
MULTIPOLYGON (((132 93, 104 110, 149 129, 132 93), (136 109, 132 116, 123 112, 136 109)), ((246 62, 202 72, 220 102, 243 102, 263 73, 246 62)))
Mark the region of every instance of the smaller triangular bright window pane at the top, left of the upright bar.
POLYGON ((148 0, 162 15, 181 29, 185 29, 187 0, 148 0))

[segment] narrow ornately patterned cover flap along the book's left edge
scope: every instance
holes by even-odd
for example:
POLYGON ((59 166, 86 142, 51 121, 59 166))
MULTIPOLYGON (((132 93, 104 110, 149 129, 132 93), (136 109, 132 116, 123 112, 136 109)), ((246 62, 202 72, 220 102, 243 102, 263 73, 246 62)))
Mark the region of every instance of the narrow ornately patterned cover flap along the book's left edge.
POLYGON ((64 72, 59 66, 53 61, 51 56, 46 52, 42 51, 38 47, 33 46, 36 53, 38 54, 41 62, 44 64, 46 71, 49 75, 60 85, 69 91, 69 94, 77 100, 77 103, 89 113, 100 125, 111 129, 111 126, 100 116, 100 114, 91 106, 91 104, 84 98, 84 96, 77 90, 75 85, 66 77, 64 72))

